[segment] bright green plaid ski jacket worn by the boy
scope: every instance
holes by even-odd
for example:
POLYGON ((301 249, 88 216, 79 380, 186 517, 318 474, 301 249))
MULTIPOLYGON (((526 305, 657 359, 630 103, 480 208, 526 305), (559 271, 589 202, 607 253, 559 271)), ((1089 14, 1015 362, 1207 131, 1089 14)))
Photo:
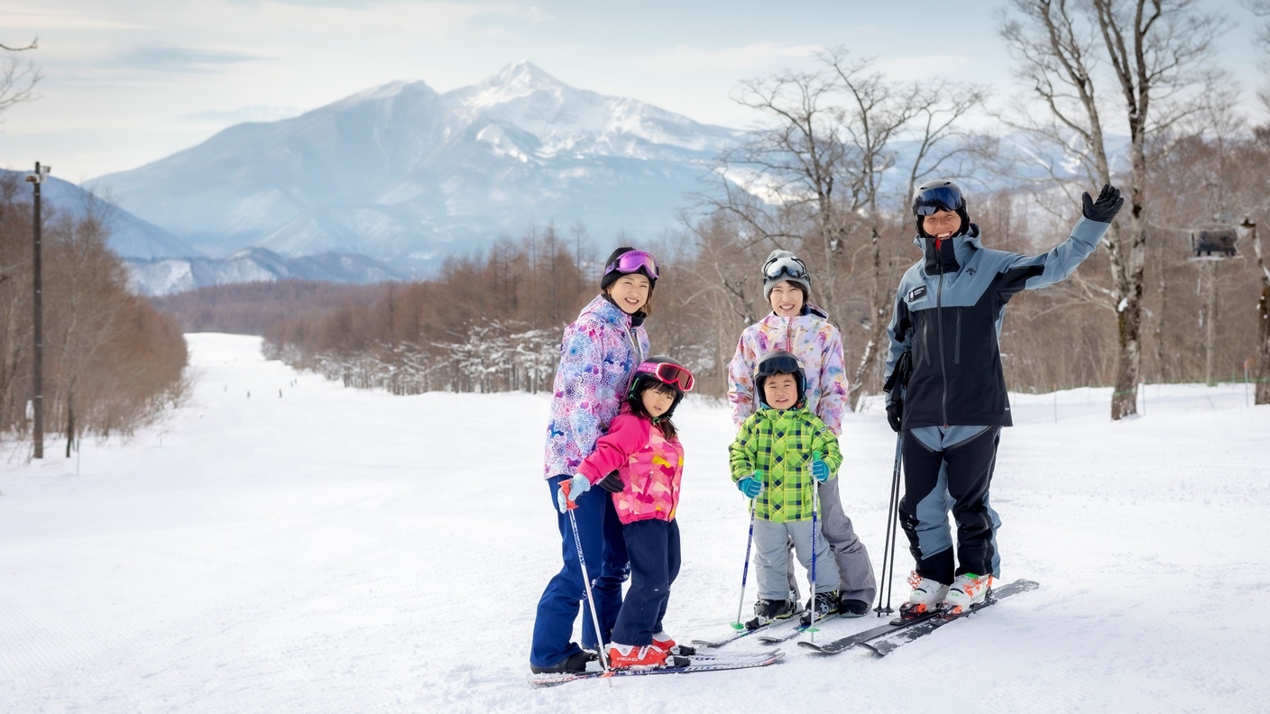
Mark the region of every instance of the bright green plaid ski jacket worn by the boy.
POLYGON ((838 437, 805 408, 759 409, 751 414, 728 447, 733 483, 762 474, 763 492, 754 499, 754 517, 784 523, 812 520, 813 455, 836 478, 842 465, 838 437))

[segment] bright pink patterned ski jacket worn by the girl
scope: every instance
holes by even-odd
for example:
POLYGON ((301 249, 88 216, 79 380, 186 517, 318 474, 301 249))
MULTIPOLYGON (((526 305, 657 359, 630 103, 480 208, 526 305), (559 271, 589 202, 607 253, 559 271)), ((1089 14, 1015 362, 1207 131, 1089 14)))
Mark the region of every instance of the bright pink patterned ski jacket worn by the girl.
POLYGON ((679 506, 679 482, 683 478, 683 446, 678 438, 667 440, 662 429, 631 413, 613 419, 608 433, 599 437, 596 450, 587 456, 578 473, 597 484, 613 470, 622 478, 624 488, 613 494, 617 520, 673 521, 679 506))

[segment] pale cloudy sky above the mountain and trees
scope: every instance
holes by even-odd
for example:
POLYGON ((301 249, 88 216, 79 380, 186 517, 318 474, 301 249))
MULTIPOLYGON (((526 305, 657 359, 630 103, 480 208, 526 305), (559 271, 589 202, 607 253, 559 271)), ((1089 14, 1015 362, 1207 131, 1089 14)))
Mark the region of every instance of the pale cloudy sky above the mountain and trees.
MULTIPOLYGON (((1223 64, 1259 80, 1251 15, 1223 64)), ((0 43, 39 37, 38 102, 0 119, 0 166, 39 160, 81 182, 392 80, 438 91, 528 60, 570 85, 732 127, 753 119, 744 79, 810 69, 820 48, 876 57, 892 79, 928 74, 1017 91, 997 34, 1003 1, 0 0, 0 43)), ((1248 93, 1251 95, 1251 91, 1248 93)))

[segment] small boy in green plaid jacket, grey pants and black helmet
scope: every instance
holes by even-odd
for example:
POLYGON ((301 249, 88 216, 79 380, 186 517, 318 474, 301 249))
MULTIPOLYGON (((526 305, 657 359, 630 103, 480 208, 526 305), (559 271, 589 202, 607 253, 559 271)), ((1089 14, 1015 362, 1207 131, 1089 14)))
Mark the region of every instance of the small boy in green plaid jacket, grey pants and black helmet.
MULTIPOLYGON (((838 567, 824 535, 813 534, 813 498, 815 482, 828 482, 842 465, 838 438, 804 405, 806 379, 798 357, 784 349, 765 356, 754 386, 761 409, 745 418, 729 447, 732 480, 754 499, 758 602, 754 619, 745 623, 748 629, 800 609, 790 600, 786 581, 789 539, 799 563, 810 572, 815 536, 815 596, 808 606, 817 619, 837 611, 838 567)), ((820 525, 814 527, 819 531, 820 525)), ((809 624, 812 614, 803 619, 809 624)))

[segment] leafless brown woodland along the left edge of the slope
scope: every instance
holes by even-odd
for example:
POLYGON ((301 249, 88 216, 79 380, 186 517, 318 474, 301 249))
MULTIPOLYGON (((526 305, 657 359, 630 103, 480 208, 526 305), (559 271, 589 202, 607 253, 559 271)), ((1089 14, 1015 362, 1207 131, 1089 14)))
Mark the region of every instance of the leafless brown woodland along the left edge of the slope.
MULTIPOLYGON (((185 394, 185 340, 170 315, 128 291, 105 244, 110 208, 43 203, 41 215, 44 441, 70 456, 86 434, 130 433, 185 394)), ((34 419, 33 191, 0 178, 0 438, 27 441, 34 419)))

